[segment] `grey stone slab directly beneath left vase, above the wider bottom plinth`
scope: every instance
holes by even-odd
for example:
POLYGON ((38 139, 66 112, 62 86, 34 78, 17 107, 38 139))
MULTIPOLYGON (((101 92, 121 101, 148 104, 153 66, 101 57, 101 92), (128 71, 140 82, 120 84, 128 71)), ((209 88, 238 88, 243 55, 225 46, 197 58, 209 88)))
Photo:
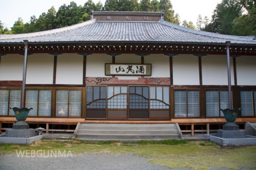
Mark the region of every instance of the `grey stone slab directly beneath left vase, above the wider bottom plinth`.
POLYGON ((6 130, 7 138, 30 138, 36 134, 35 129, 8 129, 6 130))

